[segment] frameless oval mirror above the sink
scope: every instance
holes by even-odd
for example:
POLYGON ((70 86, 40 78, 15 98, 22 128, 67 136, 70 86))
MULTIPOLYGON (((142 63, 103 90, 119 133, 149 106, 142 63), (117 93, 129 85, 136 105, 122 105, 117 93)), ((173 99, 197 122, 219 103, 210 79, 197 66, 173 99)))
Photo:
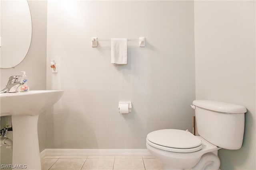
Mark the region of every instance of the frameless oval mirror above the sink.
POLYGON ((0 67, 11 68, 26 57, 32 22, 27 0, 0 0, 0 67))

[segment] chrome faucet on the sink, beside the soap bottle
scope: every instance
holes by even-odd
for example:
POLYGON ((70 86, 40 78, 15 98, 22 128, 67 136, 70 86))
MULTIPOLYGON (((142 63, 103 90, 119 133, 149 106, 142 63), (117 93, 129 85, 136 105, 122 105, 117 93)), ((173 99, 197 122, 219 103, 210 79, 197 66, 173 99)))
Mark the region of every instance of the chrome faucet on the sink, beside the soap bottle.
POLYGON ((6 84, 6 87, 0 91, 0 93, 13 93, 13 92, 18 92, 18 86, 24 84, 24 82, 19 82, 18 79, 19 76, 10 76, 9 80, 6 84))

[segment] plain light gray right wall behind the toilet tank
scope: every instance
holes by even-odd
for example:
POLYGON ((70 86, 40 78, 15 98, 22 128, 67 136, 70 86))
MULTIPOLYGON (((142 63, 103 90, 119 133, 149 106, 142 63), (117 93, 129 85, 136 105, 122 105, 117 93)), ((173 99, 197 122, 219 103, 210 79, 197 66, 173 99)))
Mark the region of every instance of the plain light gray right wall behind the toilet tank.
POLYGON ((219 150, 222 170, 255 170, 255 1, 195 1, 196 99, 244 105, 240 150, 219 150))

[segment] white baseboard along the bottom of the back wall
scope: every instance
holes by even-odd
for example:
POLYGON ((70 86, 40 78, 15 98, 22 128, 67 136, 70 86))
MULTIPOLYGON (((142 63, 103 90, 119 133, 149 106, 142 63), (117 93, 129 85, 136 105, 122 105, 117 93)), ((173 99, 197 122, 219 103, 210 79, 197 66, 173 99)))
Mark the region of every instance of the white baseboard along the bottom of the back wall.
POLYGON ((148 156, 147 149, 45 149, 44 156, 148 156))

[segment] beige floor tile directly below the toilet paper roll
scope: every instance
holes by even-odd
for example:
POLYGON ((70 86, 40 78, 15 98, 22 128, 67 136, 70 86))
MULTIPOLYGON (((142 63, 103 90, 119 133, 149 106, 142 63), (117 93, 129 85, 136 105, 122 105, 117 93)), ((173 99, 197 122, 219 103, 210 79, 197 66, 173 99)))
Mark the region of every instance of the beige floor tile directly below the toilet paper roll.
POLYGON ((115 158, 114 170, 144 170, 142 158, 115 158))

